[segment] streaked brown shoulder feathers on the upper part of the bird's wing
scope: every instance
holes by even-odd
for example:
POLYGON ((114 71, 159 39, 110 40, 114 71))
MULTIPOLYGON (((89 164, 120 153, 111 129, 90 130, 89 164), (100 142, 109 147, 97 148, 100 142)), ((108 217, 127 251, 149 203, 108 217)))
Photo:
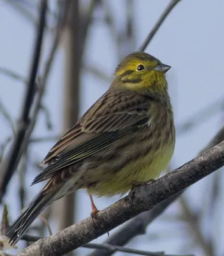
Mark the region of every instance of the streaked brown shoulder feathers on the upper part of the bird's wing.
POLYGON ((108 91, 80 119, 85 132, 111 132, 130 127, 149 111, 145 95, 128 91, 108 91))

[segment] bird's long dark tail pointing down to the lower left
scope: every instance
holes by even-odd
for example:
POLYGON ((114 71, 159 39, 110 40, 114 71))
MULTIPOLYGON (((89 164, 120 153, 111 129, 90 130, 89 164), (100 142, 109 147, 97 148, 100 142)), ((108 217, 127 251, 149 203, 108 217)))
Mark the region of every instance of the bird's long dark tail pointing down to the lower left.
POLYGON ((40 191, 40 193, 34 198, 26 211, 22 212, 19 218, 13 223, 8 232, 10 237, 10 244, 16 244, 17 241, 23 236, 27 228, 33 223, 35 218, 40 214, 47 205, 51 204, 54 200, 59 198, 61 190, 63 190, 64 182, 54 184, 54 180, 51 179, 46 186, 40 191))

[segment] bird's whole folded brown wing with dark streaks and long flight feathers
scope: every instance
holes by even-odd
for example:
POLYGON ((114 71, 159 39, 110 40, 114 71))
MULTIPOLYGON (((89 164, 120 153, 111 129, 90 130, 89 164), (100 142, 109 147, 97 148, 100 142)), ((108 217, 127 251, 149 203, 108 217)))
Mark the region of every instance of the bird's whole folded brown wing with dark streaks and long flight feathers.
POLYGON ((42 162, 48 166, 33 184, 49 179, 57 170, 99 152, 145 125, 150 101, 145 95, 107 91, 52 147, 42 162))

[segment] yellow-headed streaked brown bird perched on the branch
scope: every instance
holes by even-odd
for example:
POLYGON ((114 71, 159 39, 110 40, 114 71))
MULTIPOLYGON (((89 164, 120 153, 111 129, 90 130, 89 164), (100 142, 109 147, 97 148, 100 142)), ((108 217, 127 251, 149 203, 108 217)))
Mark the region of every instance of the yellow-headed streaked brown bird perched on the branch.
POLYGON ((146 52, 132 52, 121 61, 107 92, 41 162, 45 168, 32 185, 48 182, 11 226, 11 245, 47 205, 69 193, 86 189, 94 218, 93 195, 124 195, 135 182, 160 176, 175 147, 165 77, 170 68, 146 52))

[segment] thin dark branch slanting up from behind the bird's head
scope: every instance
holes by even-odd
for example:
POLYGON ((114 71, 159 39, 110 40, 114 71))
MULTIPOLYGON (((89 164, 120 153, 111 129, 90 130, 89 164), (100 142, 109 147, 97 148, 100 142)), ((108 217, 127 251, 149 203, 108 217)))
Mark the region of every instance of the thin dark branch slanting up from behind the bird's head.
POLYGON ((147 35, 146 40, 140 45, 138 48, 138 51, 143 52, 146 50, 147 45, 149 45, 149 42, 153 39, 153 36, 156 34, 158 29, 163 24, 163 21, 167 18, 167 16, 170 14, 170 12, 174 9, 175 5, 179 3, 181 0, 171 0, 168 4, 167 8, 165 8, 164 12, 161 14, 160 19, 156 22, 153 29, 151 29, 149 35, 147 35))

